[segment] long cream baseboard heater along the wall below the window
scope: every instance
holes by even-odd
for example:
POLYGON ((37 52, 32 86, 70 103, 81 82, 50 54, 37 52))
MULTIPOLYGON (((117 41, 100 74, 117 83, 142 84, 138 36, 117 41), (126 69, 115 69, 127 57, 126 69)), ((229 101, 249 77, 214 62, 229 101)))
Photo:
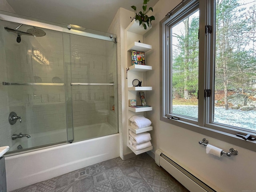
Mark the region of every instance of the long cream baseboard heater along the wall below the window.
POLYGON ((164 168, 176 180, 178 180, 190 192, 216 192, 213 188, 202 182, 196 176, 188 172, 182 166, 174 162, 170 155, 161 149, 155 153, 155 162, 158 166, 164 168))

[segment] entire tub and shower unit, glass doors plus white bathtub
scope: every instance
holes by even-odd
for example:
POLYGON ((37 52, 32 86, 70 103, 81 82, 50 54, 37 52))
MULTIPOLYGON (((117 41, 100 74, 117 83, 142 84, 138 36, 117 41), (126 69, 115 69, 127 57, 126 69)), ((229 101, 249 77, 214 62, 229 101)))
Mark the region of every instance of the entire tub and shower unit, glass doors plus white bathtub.
POLYGON ((116 35, 0 12, 0 60, 9 191, 118 156, 116 35))

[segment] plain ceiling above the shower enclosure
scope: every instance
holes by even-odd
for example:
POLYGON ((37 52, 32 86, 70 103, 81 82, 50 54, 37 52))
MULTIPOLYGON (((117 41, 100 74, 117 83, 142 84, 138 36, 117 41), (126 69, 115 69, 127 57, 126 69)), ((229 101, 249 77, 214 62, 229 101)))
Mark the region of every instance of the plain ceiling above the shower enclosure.
MULTIPOLYGON (((107 32, 118 8, 142 10, 143 0, 6 0, 14 12, 60 24, 75 24, 107 32)), ((150 0, 153 7, 158 0, 150 0)))

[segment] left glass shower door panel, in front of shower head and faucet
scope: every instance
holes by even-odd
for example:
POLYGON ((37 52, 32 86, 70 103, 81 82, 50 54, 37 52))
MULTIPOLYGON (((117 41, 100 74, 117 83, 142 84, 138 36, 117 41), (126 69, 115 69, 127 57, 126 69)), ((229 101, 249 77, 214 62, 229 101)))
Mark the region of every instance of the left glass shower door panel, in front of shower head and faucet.
POLYGON ((1 146, 13 152, 67 142, 62 32, 7 21, 0 28, 1 146), (46 35, 27 35, 31 29, 46 35), (15 124, 11 112, 20 117, 15 124))

